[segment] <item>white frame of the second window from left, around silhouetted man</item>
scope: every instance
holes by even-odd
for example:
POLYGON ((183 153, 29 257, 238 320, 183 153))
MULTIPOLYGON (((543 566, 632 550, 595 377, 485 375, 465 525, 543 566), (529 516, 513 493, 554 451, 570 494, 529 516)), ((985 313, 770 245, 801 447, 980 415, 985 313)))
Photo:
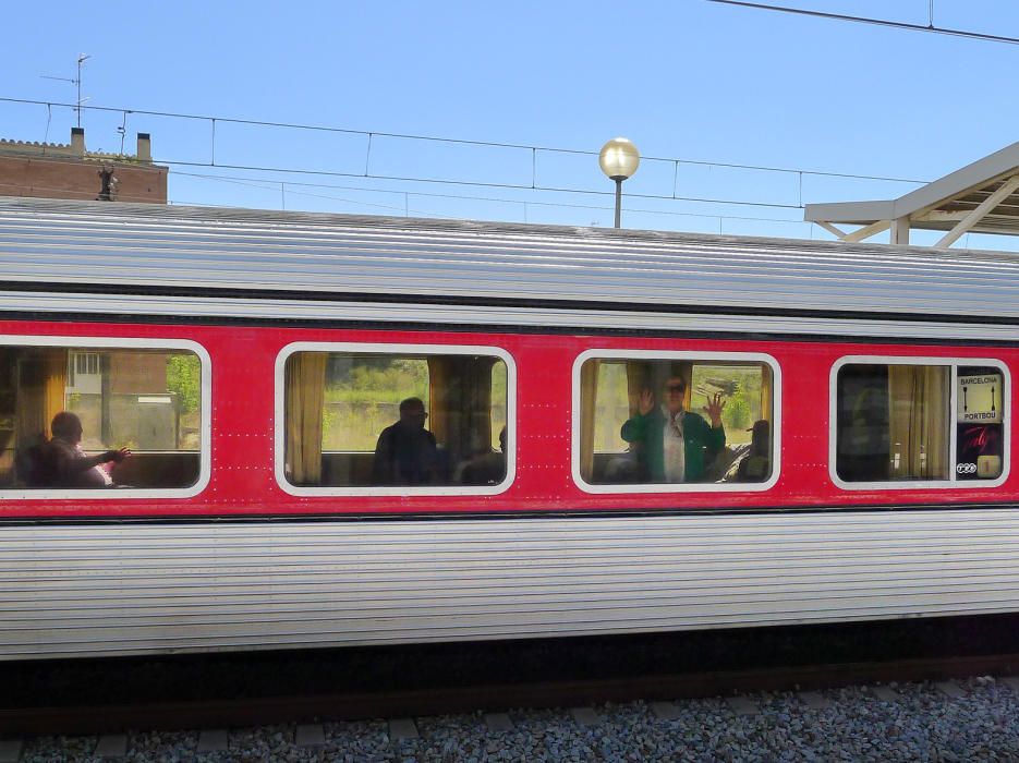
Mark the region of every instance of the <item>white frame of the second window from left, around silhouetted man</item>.
POLYGON ((292 496, 493 496, 505 493, 517 475, 517 364, 500 347, 487 344, 411 344, 408 342, 292 342, 276 356, 276 482, 292 496), (506 476, 498 485, 294 485, 287 480, 286 367, 298 352, 336 352, 416 358, 427 355, 485 355, 506 363, 506 476))

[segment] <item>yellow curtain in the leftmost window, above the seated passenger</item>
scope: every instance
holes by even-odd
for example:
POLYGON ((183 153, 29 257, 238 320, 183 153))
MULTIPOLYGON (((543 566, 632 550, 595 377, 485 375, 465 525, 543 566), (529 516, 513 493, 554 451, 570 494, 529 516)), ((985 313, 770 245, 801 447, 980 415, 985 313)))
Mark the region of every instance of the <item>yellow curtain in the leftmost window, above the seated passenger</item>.
POLYGON ((17 446, 31 446, 50 436, 53 416, 64 410, 68 351, 63 348, 28 350, 21 358, 17 379, 17 446))

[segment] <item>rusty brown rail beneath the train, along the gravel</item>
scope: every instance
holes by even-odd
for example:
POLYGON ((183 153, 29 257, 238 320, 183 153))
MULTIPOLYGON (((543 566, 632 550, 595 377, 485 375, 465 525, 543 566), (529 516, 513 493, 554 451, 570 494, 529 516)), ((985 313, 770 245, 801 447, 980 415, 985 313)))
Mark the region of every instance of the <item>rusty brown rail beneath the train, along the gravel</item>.
POLYGON ((653 702, 756 692, 817 691, 868 683, 941 682, 971 676, 1010 675, 1016 668, 1019 668, 1019 653, 386 692, 198 698, 144 704, 39 705, 0 710, 0 730, 5 736, 88 735, 128 728, 155 730, 260 726, 318 718, 403 718, 504 712, 514 707, 571 707, 633 700, 653 702))

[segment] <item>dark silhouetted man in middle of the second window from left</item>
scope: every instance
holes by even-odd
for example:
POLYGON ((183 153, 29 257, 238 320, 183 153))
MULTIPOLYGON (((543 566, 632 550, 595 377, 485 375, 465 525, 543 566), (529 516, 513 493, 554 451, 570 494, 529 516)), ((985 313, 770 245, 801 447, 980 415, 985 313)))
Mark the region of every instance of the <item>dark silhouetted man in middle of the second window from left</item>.
POLYGON ((425 404, 420 398, 400 403, 400 421, 387 426, 375 445, 373 485, 429 485, 439 477, 435 435, 425 428, 425 404))

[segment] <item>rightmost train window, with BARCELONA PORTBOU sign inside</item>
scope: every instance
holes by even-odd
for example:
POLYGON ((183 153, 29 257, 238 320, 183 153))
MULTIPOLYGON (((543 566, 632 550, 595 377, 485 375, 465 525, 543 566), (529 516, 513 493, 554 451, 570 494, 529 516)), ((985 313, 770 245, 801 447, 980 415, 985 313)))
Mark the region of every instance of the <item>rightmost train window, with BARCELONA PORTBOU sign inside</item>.
POLYGON ((861 360, 844 359, 834 371, 836 482, 895 487, 1003 480, 1004 366, 861 360))

